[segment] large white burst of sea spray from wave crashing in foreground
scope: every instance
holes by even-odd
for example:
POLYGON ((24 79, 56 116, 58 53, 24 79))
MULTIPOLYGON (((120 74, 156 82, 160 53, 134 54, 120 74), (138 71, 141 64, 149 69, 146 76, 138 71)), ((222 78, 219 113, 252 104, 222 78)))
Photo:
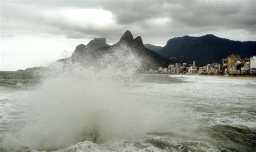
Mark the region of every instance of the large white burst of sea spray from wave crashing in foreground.
POLYGON ((57 150, 85 140, 129 139, 159 124, 155 113, 141 109, 136 97, 125 93, 142 61, 122 47, 95 62, 69 59, 50 66, 37 92, 28 97, 36 106, 26 112, 21 134, 6 140, 10 147, 57 150))

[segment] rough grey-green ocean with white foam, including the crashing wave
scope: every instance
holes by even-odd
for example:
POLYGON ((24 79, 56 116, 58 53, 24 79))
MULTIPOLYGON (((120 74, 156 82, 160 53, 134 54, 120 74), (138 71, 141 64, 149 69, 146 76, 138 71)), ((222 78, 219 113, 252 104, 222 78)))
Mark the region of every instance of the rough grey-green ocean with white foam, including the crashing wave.
POLYGON ((0 151, 256 150, 256 81, 93 74, 1 71, 0 151))

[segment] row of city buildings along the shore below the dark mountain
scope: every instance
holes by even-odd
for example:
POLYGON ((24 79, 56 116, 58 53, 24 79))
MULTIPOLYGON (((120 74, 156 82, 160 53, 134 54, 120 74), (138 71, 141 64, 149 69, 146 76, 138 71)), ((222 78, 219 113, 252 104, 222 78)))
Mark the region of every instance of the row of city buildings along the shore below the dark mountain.
POLYGON ((150 74, 223 74, 243 75, 256 74, 256 56, 241 59, 240 55, 231 55, 219 63, 207 64, 197 67, 196 61, 192 64, 170 64, 168 68, 159 67, 158 70, 150 69, 150 74))

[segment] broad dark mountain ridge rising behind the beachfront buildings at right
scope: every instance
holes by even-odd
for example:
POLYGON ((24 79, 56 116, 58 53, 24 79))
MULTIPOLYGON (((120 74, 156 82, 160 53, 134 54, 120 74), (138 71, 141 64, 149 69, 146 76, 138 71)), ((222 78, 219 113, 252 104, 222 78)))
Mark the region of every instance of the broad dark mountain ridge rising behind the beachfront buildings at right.
POLYGON ((201 37, 178 37, 167 41, 167 44, 157 51, 160 55, 176 63, 191 63, 197 65, 219 62, 232 54, 241 58, 256 55, 255 41, 232 41, 207 34, 201 37))

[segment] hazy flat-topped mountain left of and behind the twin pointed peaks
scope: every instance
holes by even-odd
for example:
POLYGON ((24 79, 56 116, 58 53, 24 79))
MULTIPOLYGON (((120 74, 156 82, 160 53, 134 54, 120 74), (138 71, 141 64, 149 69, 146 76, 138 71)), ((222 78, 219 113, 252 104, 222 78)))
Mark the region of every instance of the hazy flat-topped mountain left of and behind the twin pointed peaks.
POLYGON ((106 44, 106 38, 95 38, 91 40, 87 45, 80 44, 76 47, 72 56, 83 56, 87 53, 90 53, 92 50, 95 50, 100 47, 109 46, 106 44))

